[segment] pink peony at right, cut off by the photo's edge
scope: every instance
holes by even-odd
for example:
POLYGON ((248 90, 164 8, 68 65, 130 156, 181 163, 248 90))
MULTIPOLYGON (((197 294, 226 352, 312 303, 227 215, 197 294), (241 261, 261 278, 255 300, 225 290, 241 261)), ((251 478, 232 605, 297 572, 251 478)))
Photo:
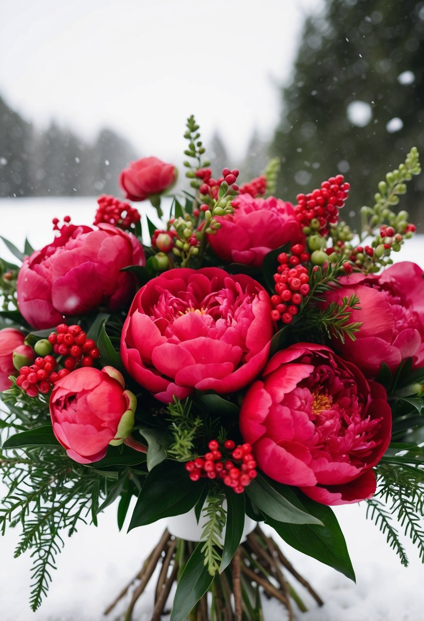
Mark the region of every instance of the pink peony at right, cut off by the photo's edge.
POLYGON ((424 273, 405 261, 381 274, 351 274, 343 286, 326 294, 327 302, 341 302, 356 294, 361 311, 351 312, 352 322, 362 322, 356 340, 334 347, 343 358, 375 377, 382 361, 394 371, 402 360, 413 358, 414 368, 424 366, 424 273))

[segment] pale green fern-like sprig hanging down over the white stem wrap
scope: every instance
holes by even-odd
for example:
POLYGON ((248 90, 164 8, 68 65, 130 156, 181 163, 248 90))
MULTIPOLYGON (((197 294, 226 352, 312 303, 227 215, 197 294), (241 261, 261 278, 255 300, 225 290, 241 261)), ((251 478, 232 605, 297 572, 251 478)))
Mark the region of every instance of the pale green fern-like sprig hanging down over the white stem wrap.
POLYGON ((201 535, 202 539, 205 539, 201 551, 205 555, 205 566, 208 567, 208 572, 214 576, 219 571, 221 564, 222 537, 226 522, 223 494, 219 494, 216 490, 210 492, 202 512, 208 521, 205 523, 201 535))

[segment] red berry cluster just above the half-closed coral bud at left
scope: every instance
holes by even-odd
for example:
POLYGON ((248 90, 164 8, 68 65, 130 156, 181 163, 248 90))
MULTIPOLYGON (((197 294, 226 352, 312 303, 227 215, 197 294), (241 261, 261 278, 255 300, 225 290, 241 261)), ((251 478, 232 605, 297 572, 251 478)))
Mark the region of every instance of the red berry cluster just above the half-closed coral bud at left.
POLYGON ((53 351, 60 356, 67 356, 63 366, 73 371, 78 365, 93 366, 94 360, 100 353, 92 338, 79 325, 60 324, 56 332, 50 333, 48 342, 53 345, 53 351))

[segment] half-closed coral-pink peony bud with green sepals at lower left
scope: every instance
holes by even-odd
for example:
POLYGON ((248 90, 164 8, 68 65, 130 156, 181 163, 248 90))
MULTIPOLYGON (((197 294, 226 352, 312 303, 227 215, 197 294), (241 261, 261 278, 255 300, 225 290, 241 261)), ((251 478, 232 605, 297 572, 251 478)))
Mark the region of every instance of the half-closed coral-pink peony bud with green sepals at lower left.
POLYGON ((50 396, 53 433, 78 463, 101 460, 134 427, 136 397, 119 371, 83 366, 59 379, 50 396))

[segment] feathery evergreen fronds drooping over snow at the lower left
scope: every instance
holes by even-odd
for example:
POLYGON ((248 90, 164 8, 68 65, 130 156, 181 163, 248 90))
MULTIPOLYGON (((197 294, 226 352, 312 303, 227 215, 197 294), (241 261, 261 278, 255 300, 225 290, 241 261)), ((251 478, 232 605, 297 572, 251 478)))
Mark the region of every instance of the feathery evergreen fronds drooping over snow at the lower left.
POLYGON ((32 551, 30 605, 37 610, 52 581, 63 532, 72 535, 80 521, 96 524, 106 478, 51 447, 0 453, 0 470, 8 487, 0 505, 0 530, 4 534, 7 524, 22 525, 15 557, 32 551))

